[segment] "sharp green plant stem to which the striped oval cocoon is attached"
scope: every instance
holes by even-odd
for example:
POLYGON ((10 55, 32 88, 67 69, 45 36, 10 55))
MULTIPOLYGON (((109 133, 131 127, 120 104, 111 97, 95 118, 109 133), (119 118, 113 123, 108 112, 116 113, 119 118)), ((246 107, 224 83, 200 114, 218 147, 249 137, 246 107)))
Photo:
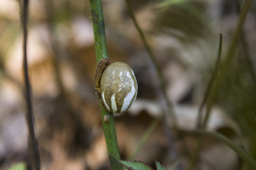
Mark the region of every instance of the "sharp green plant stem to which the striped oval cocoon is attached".
MULTIPOLYGON (((92 26, 94 32, 94 41, 95 41, 95 51, 96 51, 96 61, 99 63, 101 59, 108 58, 107 52, 107 42, 106 42, 106 33, 104 26, 104 18, 103 11, 101 6, 101 0, 90 0, 91 5, 91 18, 92 18, 92 26)), ((101 110, 101 121, 103 125, 104 136, 107 144, 107 150, 110 160, 111 170, 122 170, 122 165, 119 161, 119 148, 118 141, 116 136, 115 122, 113 113, 105 110, 101 102, 100 110, 101 110), (105 122, 104 117, 108 117, 109 121, 105 122)))

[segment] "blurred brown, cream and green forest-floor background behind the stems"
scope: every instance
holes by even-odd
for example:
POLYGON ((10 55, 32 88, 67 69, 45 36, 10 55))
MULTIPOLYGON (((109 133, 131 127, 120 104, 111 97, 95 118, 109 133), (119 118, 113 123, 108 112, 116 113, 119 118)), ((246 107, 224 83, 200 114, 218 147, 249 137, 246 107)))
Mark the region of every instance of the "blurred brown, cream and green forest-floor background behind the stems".
MULTIPOLYGON (((222 59, 244 0, 130 0, 165 79, 181 129, 197 127, 199 107, 218 57, 222 59)), ((137 100, 115 115, 122 160, 128 160, 152 121, 166 112, 155 65, 124 0, 102 0, 111 62, 134 71, 137 100)), ((22 95, 22 31, 18 0, 0 0, 0 170, 24 162, 27 124, 22 95)), ((94 94, 96 58, 89 0, 30 0, 28 64, 42 170, 109 170, 100 109, 94 94)), ((256 2, 230 67, 220 81, 207 129, 256 158, 256 2)), ((133 160, 184 170, 197 136, 174 137, 162 119, 133 160), (186 146, 186 147, 184 147, 186 146), (184 151, 186 150, 186 151, 184 151)), ((251 170, 228 146, 205 137, 196 170, 251 170)))

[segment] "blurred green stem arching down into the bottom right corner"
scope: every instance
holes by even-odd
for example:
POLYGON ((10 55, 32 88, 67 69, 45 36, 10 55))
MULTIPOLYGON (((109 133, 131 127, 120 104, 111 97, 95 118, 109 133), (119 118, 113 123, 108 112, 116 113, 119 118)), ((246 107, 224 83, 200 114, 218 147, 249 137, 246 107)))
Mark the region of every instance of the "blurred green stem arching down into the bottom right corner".
POLYGON ((238 156, 240 156, 247 164, 255 169, 256 168, 256 160, 254 160, 244 149, 242 149, 238 144, 234 143, 231 141, 229 138, 226 136, 220 135, 219 133, 216 132, 211 132, 211 131, 205 131, 205 130, 192 130, 192 131, 181 131, 185 134, 195 134, 195 135, 200 135, 200 136, 210 136, 213 137, 224 144, 227 144, 233 151, 235 151, 238 156))

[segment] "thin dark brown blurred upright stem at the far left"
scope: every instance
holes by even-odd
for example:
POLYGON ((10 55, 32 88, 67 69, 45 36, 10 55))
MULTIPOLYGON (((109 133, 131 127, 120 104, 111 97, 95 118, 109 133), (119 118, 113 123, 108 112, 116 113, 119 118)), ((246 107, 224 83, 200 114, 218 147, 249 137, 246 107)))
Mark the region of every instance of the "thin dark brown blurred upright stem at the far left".
POLYGON ((28 0, 23 0, 23 10, 22 10, 22 26, 23 26, 23 74, 25 82, 25 98, 27 104, 27 126, 28 126, 28 153, 30 160, 32 161, 32 169, 40 170, 40 155, 38 150, 37 139, 35 136, 34 122, 33 122, 33 107, 31 101, 31 89, 28 77, 27 68, 27 23, 28 23, 28 0))

